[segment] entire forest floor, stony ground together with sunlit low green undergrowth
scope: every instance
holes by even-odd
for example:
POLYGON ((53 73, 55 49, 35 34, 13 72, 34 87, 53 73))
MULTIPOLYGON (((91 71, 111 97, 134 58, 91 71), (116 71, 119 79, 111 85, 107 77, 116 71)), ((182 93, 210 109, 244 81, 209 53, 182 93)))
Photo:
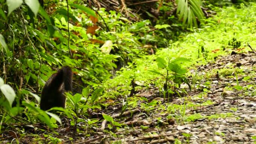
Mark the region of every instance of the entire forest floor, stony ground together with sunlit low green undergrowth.
POLYGON ((58 129, 41 123, 15 125, 0 139, 11 143, 16 138, 24 144, 256 144, 256 54, 247 46, 249 42, 256 47, 255 8, 222 9, 202 28, 181 34, 179 42, 135 59, 134 70, 126 68, 106 82, 105 94, 110 96, 102 98, 101 109, 88 111, 91 117, 77 124, 76 134, 63 118, 58 129), (234 49, 237 43, 242 44, 234 49), (199 53, 201 46, 207 52, 199 53), (192 60, 192 66, 186 65, 192 90, 181 85, 168 100, 162 91, 164 79, 148 70, 157 69, 156 57, 176 58, 184 49, 182 57, 192 60), (132 74, 136 86, 129 96, 132 74), (109 122, 103 113, 111 116, 109 122))

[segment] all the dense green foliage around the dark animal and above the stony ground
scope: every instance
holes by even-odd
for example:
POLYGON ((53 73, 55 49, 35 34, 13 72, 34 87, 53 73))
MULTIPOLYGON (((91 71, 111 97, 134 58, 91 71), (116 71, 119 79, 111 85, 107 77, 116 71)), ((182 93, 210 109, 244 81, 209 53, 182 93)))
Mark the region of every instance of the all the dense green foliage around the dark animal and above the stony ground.
MULTIPOLYGON (((60 117, 75 136, 81 129, 103 131, 99 125, 103 119, 120 128, 124 125, 101 113, 113 100, 120 99, 124 113, 137 107, 136 101, 147 101, 134 95, 152 86, 164 99, 168 96, 166 102, 195 91, 191 65, 205 64, 231 48, 247 50, 245 42, 252 38, 246 35, 255 31, 255 16, 241 13, 250 13, 243 9, 256 5, 243 0, 160 1, 156 6, 162 15, 141 21, 96 9, 86 1, 40 2, 0 0, 0 131, 20 127, 17 131, 22 134, 22 126, 38 123, 55 129, 63 124, 60 117), (237 14, 231 13, 233 4, 241 8, 237 14), (221 9, 215 6, 229 7, 218 14, 221 9), (173 13, 165 15, 170 9, 173 13), (225 15, 229 17, 222 21, 225 15), (40 110, 45 82, 63 65, 74 72, 66 108, 40 110)), ((140 107, 150 111, 156 103, 140 107)))

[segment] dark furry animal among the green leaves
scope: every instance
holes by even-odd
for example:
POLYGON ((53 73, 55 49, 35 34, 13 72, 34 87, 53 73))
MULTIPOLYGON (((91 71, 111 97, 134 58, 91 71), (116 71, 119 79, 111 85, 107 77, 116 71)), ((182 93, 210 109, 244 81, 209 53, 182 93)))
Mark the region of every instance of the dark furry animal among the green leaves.
POLYGON ((40 108, 42 110, 49 110, 52 107, 65 108, 64 92, 72 89, 72 74, 71 68, 64 66, 47 80, 41 94, 40 108))

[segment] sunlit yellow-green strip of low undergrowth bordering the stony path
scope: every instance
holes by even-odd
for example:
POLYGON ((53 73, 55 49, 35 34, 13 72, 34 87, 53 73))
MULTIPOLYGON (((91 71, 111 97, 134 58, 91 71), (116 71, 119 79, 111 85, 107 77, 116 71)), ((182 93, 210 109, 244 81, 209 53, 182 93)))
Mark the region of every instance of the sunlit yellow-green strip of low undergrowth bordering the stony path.
MULTIPOLYGON (((118 95, 127 95, 131 90, 131 80, 138 85, 137 90, 150 85, 161 88, 164 80, 149 70, 160 70, 155 59, 174 59, 177 57, 188 58, 192 63, 183 65, 188 70, 196 66, 214 61, 219 55, 229 55, 232 51, 248 51, 247 42, 255 47, 255 9, 256 5, 241 5, 235 7, 219 8, 217 15, 205 20, 201 28, 193 29, 190 33, 182 33, 178 41, 170 40, 167 48, 159 48, 155 55, 144 55, 141 58, 132 59, 129 66, 116 73, 116 77, 104 82, 104 87, 111 92, 105 96, 114 98, 118 95), (238 45, 237 43, 240 43, 238 45), (238 48, 235 48, 238 47, 238 48)), ((229 70, 228 70, 229 71, 229 70)), ((221 71, 224 75, 228 71, 221 71)), ((188 73, 188 76, 191 73, 188 73)))

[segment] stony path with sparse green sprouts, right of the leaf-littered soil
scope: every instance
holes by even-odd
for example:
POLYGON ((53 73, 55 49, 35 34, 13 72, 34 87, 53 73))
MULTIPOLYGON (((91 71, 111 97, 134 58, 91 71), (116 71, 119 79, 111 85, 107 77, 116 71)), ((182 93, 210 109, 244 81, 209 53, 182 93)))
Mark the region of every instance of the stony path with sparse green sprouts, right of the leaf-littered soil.
MULTIPOLYGON (((172 105, 161 104, 164 99, 158 97, 159 91, 156 88, 141 91, 136 96, 145 97, 149 104, 154 105, 148 107, 150 113, 147 108, 131 109, 132 117, 127 111, 128 113, 122 114, 122 121, 119 123, 132 128, 114 128, 113 134, 109 135, 96 133, 95 141, 87 142, 103 143, 104 138, 105 144, 114 141, 122 144, 254 144, 255 63, 255 53, 219 56, 216 61, 198 67, 197 77, 202 79, 195 84, 196 91, 192 90, 184 97, 174 98, 170 102, 172 105), (236 76, 236 73, 243 75, 236 76), (208 91, 203 90, 206 87, 208 91), (174 112, 176 114, 168 118, 168 115, 174 112)), ((143 105, 143 102, 145 101, 140 101, 138 105, 143 105)), ((117 113, 110 116, 115 114, 117 113)))

